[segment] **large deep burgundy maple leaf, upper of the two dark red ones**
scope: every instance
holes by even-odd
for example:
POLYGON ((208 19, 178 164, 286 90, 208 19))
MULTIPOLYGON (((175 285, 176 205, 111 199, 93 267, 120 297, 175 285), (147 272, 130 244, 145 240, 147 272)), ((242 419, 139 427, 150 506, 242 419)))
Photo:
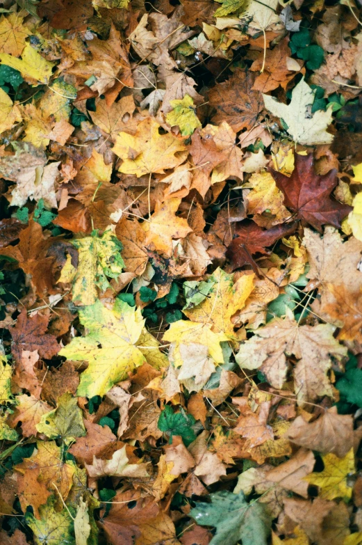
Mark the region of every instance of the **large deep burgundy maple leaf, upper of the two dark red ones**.
POLYGON ((338 183, 336 169, 318 176, 313 167, 313 154, 296 154, 290 177, 274 170, 270 172, 283 191, 284 205, 293 210, 296 219, 308 221, 318 231, 325 223, 340 228, 340 222, 352 210, 331 197, 331 191, 338 183))

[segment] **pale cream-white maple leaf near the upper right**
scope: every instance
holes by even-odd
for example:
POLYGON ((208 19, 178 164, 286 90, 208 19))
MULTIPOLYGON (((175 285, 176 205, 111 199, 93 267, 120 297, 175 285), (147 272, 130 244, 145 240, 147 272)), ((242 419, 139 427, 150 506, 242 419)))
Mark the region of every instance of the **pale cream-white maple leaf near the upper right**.
POLYGON ((318 110, 313 116, 309 109, 313 104, 315 90, 312 90, 304 81, 304 78, 295 86, 292 93, 292 100, 288 106, 277 102, 269 95, 263 95, 265 108, 273 116, 282 118, 288 125, 288 133, 295 142, 305 145, 330 144, 333 135, 326 129, 332 121, 332 110, 318 110))

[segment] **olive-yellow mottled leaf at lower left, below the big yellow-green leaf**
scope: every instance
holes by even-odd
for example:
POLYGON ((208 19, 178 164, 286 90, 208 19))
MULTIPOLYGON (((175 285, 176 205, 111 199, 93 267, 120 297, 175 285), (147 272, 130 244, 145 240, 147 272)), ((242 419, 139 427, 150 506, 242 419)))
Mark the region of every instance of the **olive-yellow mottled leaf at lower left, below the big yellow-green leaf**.
POLYGON ((58 400, 58 406, 54 411, 43 414, 36 429, 49 439, 61 437, 64 441, 72 441, 74 437, 85 435, 85 427, 81 409, 77 405, 76 397, 65 393, 58 400))

